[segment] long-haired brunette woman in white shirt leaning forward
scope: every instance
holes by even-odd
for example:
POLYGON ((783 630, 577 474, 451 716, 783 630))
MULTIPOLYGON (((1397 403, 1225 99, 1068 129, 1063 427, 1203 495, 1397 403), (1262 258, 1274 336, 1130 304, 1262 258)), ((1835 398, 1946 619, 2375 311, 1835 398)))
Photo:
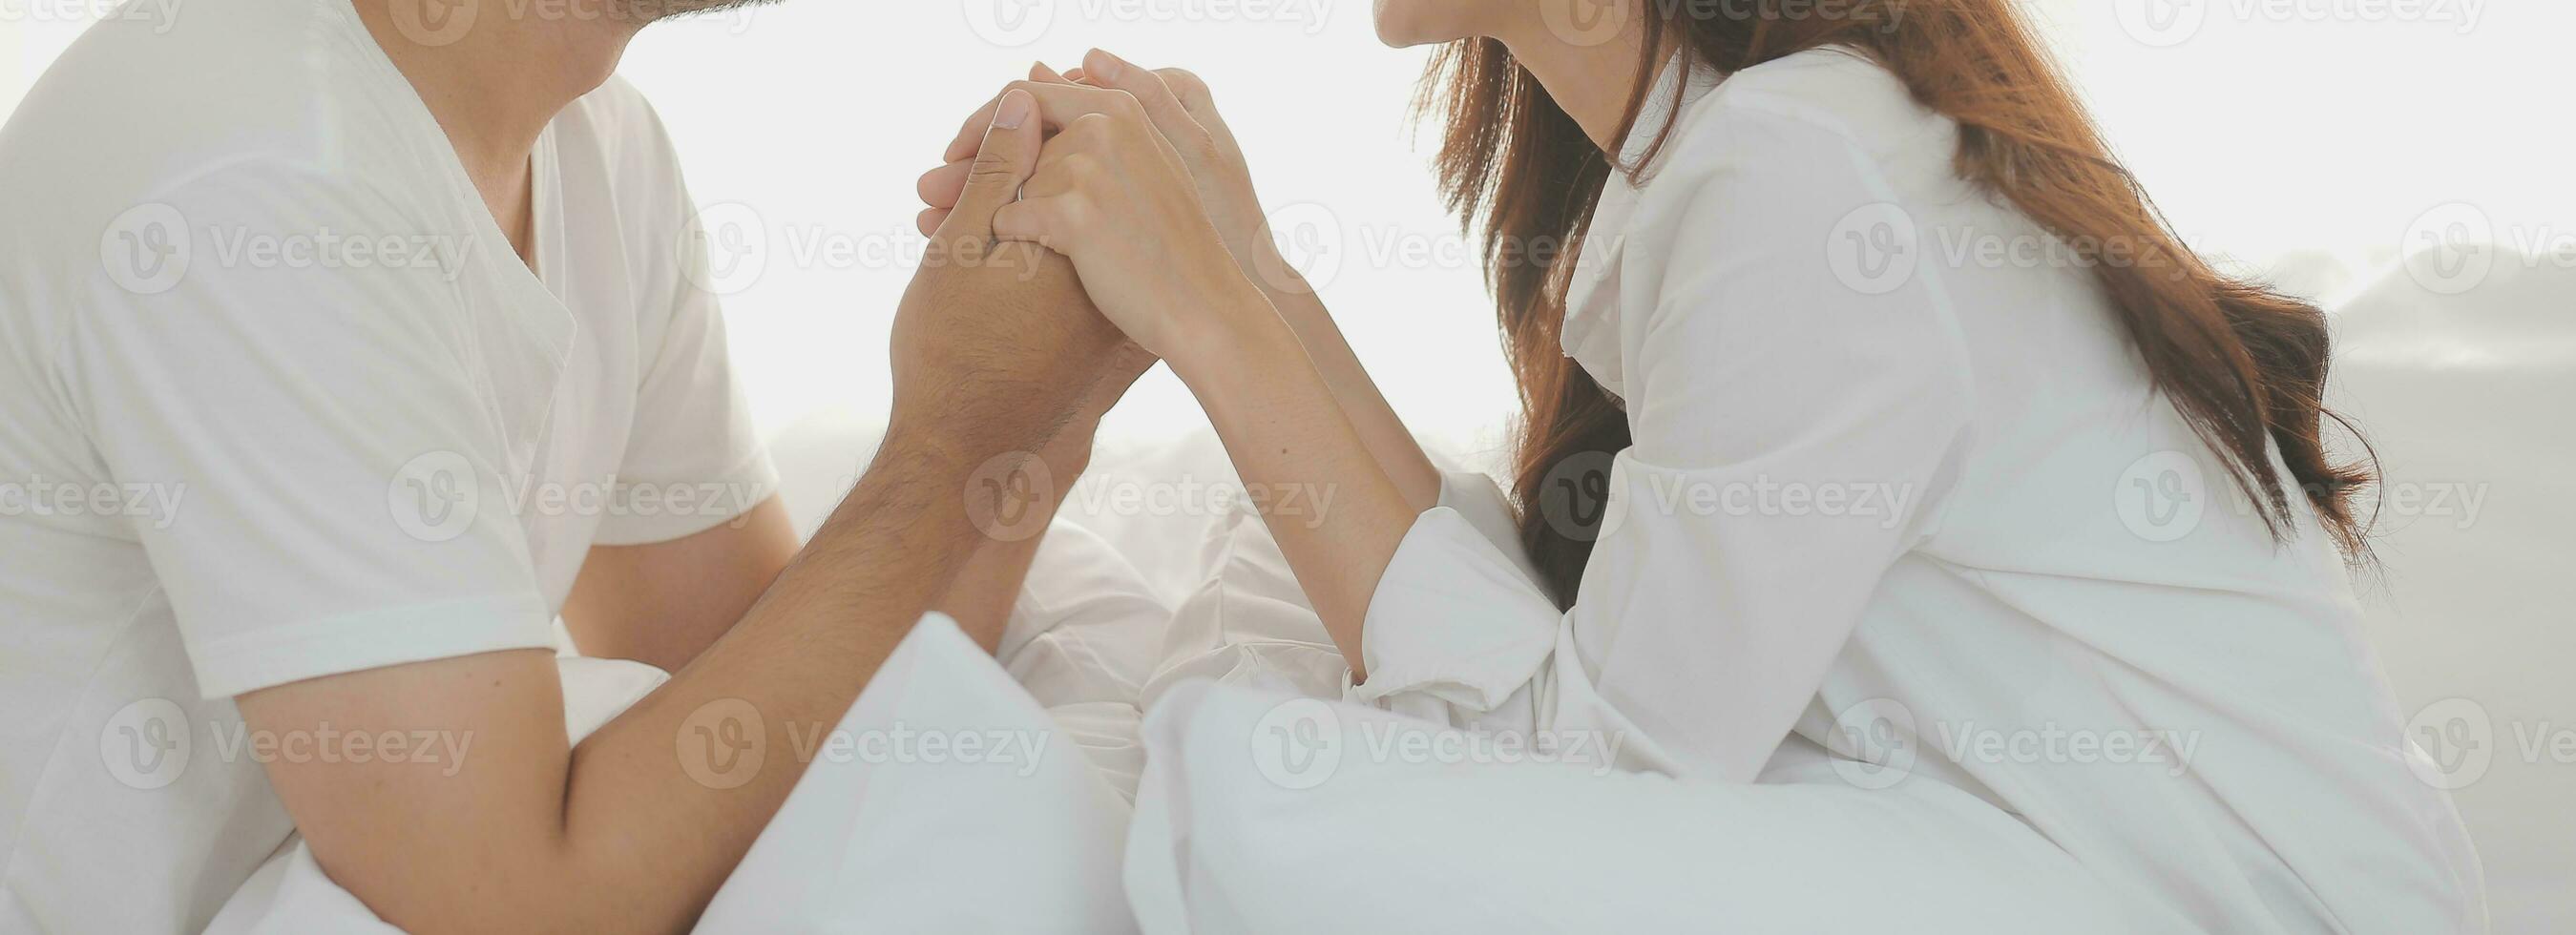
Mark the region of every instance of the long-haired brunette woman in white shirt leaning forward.
MULTIPOLYGON (((1350 695, 1620 737, 1692 780, 1620 788, 1700 796, 1672 822, 1713 850, 1795 819, 1656 925, 2483 927, 2334 554, 2365 559, 2367 474, 2324 451, 2324 314, 2182 247, 2007 0, 1589 5, 1378 3, 1391 44, 1450 41, 1427 98, 1520 381, 1512 497, 1378 399, 1195 80, 1092 54, 1010 90, 1059 134, 997 237, 1069 255, 1244 482, 1334 484, 1273 536, 1350 695), (1847 873, 1976 899, 1873 914, 1847 873)), ((1422 798, 1352 847, 1479 832, 1381 788, 1422 798)))

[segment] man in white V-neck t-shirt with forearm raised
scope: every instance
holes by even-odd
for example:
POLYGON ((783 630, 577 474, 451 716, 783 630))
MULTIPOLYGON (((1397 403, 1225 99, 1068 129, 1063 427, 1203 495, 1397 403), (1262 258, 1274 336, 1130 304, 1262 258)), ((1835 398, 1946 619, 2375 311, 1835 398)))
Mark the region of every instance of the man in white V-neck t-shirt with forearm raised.
POLYGON ((0 930, 193 932, 289 829, 404 930, 685 930, 804 773, 693 778, 693 713, 791 750, 925 610, 999 639, 1036 541, 971 479, 1069 479, 1149 363, 1059 258, 984 250, 1028 95, 799 551, 611 77, 688 10, 605 3, 118 18, 0 131, 0 930), (675 672, 577 747, 556 610, 675 672))

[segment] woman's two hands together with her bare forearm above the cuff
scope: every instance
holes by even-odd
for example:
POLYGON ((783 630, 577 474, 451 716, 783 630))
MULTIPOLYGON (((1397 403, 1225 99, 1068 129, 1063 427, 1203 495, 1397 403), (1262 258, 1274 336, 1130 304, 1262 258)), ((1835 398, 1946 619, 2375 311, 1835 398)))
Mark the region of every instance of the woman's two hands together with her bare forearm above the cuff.
POLYGON ((1273 531, 1352 672, 1365 675, 1358 647, 1370 592, 1414 515, 1437 500, 1440 477, 1280 260, 1206 85, 1095 49, 1079 72, 1036 67, 1005 88, 966 121, 948 160, 922 175, 925 229, 974 222, 1005 245, 1072 260, 1097 309, 1087 319, 1172 363, 1236 474, 1345 495, 1329 523, 1273 531), (1005 124, 1018 126, 1010 152, 1043 137, 1018 198, 992 198, 999 185, 984 183, 997 149, 984 126, 1005 124))

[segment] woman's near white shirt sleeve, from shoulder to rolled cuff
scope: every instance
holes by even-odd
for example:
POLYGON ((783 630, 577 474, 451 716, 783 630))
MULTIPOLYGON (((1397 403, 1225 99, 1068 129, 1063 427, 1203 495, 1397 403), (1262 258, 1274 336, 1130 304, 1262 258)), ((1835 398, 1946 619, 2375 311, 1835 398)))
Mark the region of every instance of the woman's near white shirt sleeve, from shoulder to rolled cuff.
POLYGON ((1579 600, 1558 610, 1443 502, 1378 582, 1355 701, 1607 732, 1620 768, 1752 780, 1878 580, 1937 525, 1973 422, 1940 270, 1837 263, 1862 247, 1837 237, 1852 216, 1891 219, 1901 250, 1917 237, 1842 134, 1762 111, 1716 131, 1723 155, 1646 193, 1643 211, 1680 211, 1641 224, 1669 242, 1628 247, 1664 268, 1625 281, 1636 443, 1613 458, 1579 600))

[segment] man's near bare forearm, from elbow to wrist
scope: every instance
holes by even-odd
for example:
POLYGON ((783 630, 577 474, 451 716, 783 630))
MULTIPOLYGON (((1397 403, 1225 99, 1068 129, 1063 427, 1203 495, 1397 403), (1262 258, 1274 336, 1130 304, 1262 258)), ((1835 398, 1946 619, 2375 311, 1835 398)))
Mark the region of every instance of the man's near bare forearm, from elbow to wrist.
POLYGON ((703 912, 804 775, 791 752, 842 719, 981 541, 958 497, 981 458, 889 435, 742 623, 574 750, 564 883, 618 894, 598 922, 685 930, 703 912))

